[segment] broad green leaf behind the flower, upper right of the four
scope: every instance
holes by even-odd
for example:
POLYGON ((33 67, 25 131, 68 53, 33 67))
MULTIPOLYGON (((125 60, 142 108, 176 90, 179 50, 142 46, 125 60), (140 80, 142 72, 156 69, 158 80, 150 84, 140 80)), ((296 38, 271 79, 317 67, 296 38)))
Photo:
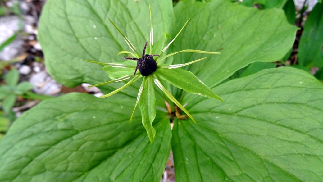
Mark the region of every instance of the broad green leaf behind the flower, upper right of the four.
MULTIPOLYGON (((175 6, 174 12, 178 26, 171 36, 176 35, 188 18, 191 21, 173 42, 171 52, 183 49, 221 52, 185 68, 209 87, 250 63, 281 59, 292 47, 297 30, 288 24, 282 10, 260 11, 224 0, 209 3, 182 1, 175 6)), ((201 54, 176 54, 174 63, 202 57, 201 54)))

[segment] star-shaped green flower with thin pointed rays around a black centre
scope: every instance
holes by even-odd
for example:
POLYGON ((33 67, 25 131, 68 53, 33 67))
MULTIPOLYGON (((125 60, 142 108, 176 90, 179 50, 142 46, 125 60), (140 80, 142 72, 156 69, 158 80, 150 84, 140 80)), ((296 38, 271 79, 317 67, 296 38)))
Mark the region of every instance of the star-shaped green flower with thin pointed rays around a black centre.
MULTIPOLYGON (((179 107, 185 114, 187 114, 194 123, 195 120, 191 116, 191 114, 182 106, 180 102, 178 102, 172 94, 161 84, 161 81, 159 79, 163 79, 175 87, 178 87, 184 91, 187 91, 189 93, 193 94, 198 94, 204 97, 209 97, 212 99, 217 99, 223 102, 223 100, 216 95, 210 88, 208 88, 201 80, 199 80, 192 72, 183 70, 180 67, 187 66, 193 63, 196 63, 198 61, 201 61, 205 58, 202 59, 197 59, 185 64, 174 64, 174 65, 165 65, 161 64, 161 61, 175 55, 177 53, 182 53, 182 52, 193 52, 193 53, 204 53, 204 54, 221 54, 218 52, 208 52, 208 51, 202 51, 202 50, 193 50, 193 49, 187 49, 187 50, 182 50, 178 51, 175 53, 171 53, 168 55, 165 55, 163 57, 160 57, 166 49, 172 44, 172 42, 177 38, 177 36, 181 33, 183 28, 186 26, 187 22, 184 24, 182 29, 178 32, 176 37, 172 39, 172 41, 162 49, 161 53, 159 54, 152 54, 152 45, 153 45, 153 27, 152 27, 152 16, 151 16, 151 7, 150 8, 150 20, 151 20, 151 32, 150 32, 150 53, 146 54, 146 46, 147 43, 145 43, 145 46, 143 48, 142 56, 137 52, 137 49, 132 45, 132 43, 129 41, 129 39, 119 30, 119 28, 110 20, 112 25, 119 31, 121 36, 125 39, 127 42, 128 46, 133 52, 129 51, 121 51, 119 54, 126 53, 126 54, 131 54, 135 58, 128 58, 128 57, 123 57, 124 59, 127 59, 127 61, 123 62, 123 64, 120 63, 101 63, 101 62, 95 62, 95 61, 89 61, 89 60, 84 60, 87 62, 91 63, 96 63, 96 64, 101 64, 101 65, 106 65, 105 70, 108 72, 109 77, 111 81, 104 82, 104 83, 99 83, 96 85, 91 85, 89 87, 94 87, 94 86, 100 86, 108 83, 113 83, 113 82, 118 82, 118 81, 123 81, 127 80, 131 77, 133 77, 128 83, 126 83, 124 86, 120 87, 119 89, 112 91, 104 96, 101 97, 109 97, 111 95, 114 95, 124 89, 125 87, 131 85, 133 82, 139 80, 140 78, 143 77, 143 81, 141 84, 141 87, 138 92, 137 96, 137 101, 135 104, 135 108, 132 112, 130 122, 133 118, 133 114, 135 112, 135 109, 137 105, 139 104, 140 110, 141 110, 141 118, 142 118, 142 124, 147 130, 147 134, 149 136, 149 139, 151 143, 154 140, 156 131, 152 126, 152 122, 155 119, 156 116, 156 98, 155 98, 155 93, 154 93, 154 86, 153 83, 155 83, 158 88, 161 89, 161 91, 177 106, 179 107), (140 58, 141 56, 141 58, 140 58), (157 57, 154 59, 153 57, 157 57), (160 57, 160 58, 159 58, 160 57), (139 69, 139 73, 137 70, 139 69), (134 72, 134 73, 133 73, 134 72), (118 78, 119 77, 119 78, 118 78), (179 78, 185 78, 185 82, 183 82, 183 79, 179 78), (190 82, 190 84, 187 84, 187 82, 190 82)), ((119 55, 118 54, 118 55, 119 55)))

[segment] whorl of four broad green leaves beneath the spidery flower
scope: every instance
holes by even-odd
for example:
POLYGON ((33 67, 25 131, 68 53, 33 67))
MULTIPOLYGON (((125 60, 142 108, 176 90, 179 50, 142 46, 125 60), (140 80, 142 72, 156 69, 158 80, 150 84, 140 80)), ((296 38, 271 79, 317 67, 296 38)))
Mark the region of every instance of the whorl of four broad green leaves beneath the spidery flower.
MULTIPOLYGON (((123 61, 116 55, 128 45, 108 18, 120 22, 121 32, 141 47, 149 37, 148 6, 145 0, 47 1, 38 38, 49 73, 70 87, 110 81, 102 66, 81 60, 123 61)), ((168 51, 221 52, 183 68, 225 102, 163 83, 186 105, 196 124, 170 116, 165 101, 170 108, 174 105, 155 89, 156 136, 151 144, 138 110, 129 124, 138 82, 106 99, 73 93, 46 100, 24 113, 0 141, 0 179, 160 181, 172 148, 177 181, 322 180, 321 82, 286 67, 223 83, 250 63, 274 62, 286 55, 297 28, 287 22, 284 12, 260 11, 227 0, 186 0, 174 7, 172 1, 154 1, 151 7, 155 47, 167 45, 168 35, 174 37, 191 18, 168 51)), ((164 64, 201 58, 182 53, 164 64)), ((108 93, 123 85, 115 82, 99 88, 108 93)))

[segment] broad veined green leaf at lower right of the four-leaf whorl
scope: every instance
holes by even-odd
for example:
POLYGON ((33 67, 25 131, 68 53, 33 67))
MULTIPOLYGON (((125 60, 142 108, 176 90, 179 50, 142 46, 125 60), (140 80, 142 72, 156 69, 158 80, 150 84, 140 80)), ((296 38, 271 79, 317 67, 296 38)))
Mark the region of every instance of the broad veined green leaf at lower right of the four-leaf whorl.
MULTIPOLYGON (((293 68, 262 70, 195 99, 175 121, 176 181, 322 181, 323 84, 293 68)), ((186 102, 185 99, 183 102, 186 102)))

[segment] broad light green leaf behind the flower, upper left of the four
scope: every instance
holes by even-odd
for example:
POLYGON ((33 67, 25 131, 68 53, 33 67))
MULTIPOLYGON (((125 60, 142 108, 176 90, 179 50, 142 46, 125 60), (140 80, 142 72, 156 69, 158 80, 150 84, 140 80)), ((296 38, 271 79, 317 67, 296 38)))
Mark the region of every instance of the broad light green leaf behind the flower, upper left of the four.
MULTIPOLYGON (((129 38, 138 52, 150 37, 147 0, 49 0, 40 18, 38 39, 45 54, 49 73, 58 82, 73 87, 83 82, 97 84, 108 81, 102 66, 82 59, 105 63, 123 62, 118 53, 130 51, 127 43, 109 22, 111 19, 129 38), (108 19, 109 18, 109 19, 108 19)), ((154 39, 164 39, 174 15, 172 1, 151 4, 154 39)), ((159 50, 160 51, 160 50, 159 50)), ((122 83, 101 86, 112 91, 122 83)), ((133 97, 136 89, 127 88, 133 97)))

